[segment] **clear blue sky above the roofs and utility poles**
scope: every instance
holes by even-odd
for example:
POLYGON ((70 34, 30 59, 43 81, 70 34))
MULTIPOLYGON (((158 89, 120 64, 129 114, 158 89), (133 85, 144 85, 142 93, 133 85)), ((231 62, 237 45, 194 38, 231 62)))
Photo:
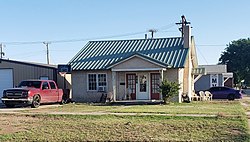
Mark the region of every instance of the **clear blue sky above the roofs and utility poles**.
POLYGON ((174 23, 185 15, 199 64, 216 64, 226 44, 249 37, 249 6, 249 0, 0 0, 0 42, 5 58, 46 63, 42 42, 51 41, 50 62, 65 64, 89 40, 141 39, 149 29, 158 30, 156 38, 178 37, 174 23))

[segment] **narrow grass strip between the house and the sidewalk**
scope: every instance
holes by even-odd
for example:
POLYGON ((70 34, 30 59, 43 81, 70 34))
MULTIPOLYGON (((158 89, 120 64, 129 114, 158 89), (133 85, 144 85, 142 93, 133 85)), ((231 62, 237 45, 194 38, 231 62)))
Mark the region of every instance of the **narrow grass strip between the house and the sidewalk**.
POLYGON ((60 107, 30 110, 28 112, 115 112, 115 113, 161 113, 161 114, 208 114, 242 115, 245 113, 239 101, 214 101, 173 103, 170 105, 110 106, 97 104, 66 104, 60 107))

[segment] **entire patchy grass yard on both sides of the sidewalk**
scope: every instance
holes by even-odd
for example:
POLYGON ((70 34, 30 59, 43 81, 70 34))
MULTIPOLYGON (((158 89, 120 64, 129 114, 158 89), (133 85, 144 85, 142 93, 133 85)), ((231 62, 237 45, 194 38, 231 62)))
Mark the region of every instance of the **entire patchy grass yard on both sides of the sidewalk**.
POLYGON ((0 114, 0 141, 249 141, 238 101, 170 105, 100 106, 67 104, 0 114), (215 117, 162 115, 66 115, 48 112, 215 114, 215 117), (28 113, 27 113, 28 112, 28 113), (27 114, 25 114, 27 113, 27 114))

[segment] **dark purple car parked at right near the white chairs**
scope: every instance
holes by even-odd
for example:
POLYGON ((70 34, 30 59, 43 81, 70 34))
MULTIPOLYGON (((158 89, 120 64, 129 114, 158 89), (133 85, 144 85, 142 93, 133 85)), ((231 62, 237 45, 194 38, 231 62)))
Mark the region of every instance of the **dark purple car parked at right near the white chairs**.
POLYGON ((211 87, 208 89, 210 93, 213 94, 213 99, 241 99, 242 93, 240 90, 235 90, 233 88, 218 86, 218 87, 211 87))

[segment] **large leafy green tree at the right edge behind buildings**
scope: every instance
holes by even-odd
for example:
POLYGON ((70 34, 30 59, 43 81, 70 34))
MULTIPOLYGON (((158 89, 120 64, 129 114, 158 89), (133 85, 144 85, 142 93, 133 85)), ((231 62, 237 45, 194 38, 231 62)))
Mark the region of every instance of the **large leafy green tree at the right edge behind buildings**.
POLYGON ((239 39, 227 45, 219 59, 226 64, 228 71, 234 73, 235 83, 245 80, 250 83, 250 39, 239 39))

